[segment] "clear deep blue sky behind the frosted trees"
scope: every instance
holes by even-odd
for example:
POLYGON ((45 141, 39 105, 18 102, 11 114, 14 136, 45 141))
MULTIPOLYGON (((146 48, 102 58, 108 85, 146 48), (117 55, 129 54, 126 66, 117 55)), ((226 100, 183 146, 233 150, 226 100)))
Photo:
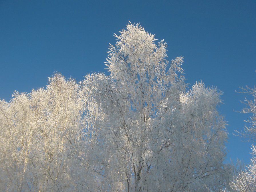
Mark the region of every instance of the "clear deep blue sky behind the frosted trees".
MULTIPOLYGON (((186 83, 222 90, 229 126, 227 160, 249 163, 251 143, 232 135, 248 115, 237 113, 256 85, 256 1, 5 1, 0 0, 0 99, 45 87, 61 72, 81 81, 104 69, 108 43, 128 21, 168 44, 168 59, 184 56, 186 83), (234 111, 235 110, 235 111, 234 111)), ((255 143, 256 144, 256 143, 255 143)))

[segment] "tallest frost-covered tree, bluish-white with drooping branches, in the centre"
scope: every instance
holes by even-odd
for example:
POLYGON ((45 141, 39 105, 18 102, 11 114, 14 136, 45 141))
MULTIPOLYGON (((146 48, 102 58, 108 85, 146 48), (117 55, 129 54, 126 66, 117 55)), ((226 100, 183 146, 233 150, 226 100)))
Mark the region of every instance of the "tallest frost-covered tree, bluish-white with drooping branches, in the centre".
POLYGON ((215 88, 185 92, 183 57, 166 60, 166 43, 128 24, 110 45, 104 74, 83 90, 102 191, 217 191, 227 179, 225 121, 215 88))

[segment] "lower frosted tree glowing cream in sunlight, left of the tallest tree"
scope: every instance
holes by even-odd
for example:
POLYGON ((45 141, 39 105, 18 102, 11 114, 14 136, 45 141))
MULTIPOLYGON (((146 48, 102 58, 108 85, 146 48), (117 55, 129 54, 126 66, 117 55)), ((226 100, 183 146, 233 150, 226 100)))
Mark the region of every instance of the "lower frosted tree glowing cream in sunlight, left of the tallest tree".
POLYGON ((1 191, 82 191, 85 160, 84 102, 76 81, 60 74, 46 89, 0 102, 1 191))

